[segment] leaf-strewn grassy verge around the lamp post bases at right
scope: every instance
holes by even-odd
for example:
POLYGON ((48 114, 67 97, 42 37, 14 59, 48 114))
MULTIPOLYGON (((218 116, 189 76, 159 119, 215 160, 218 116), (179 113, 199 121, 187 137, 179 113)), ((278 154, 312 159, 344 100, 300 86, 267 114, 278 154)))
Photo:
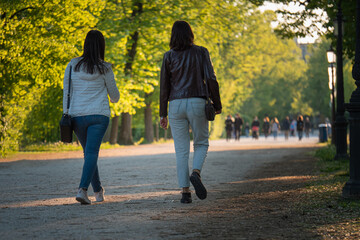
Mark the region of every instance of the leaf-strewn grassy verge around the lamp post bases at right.
POLYGON ((334 160, 334 146, 315 152, 318 173, 304 190, 299 210, 304 223, 324 239, 360 239, 360 200, 342 197, 349 179, 349 160, 334 160))

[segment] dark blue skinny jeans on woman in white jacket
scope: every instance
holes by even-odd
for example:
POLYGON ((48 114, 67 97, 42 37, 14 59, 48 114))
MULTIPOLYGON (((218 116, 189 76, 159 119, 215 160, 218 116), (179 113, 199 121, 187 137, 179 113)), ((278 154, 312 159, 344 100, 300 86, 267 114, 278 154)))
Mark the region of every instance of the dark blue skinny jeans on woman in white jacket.
POLYGON ((74 132, 84 151, 84 166, 79 188, 88 189, 91 183, 94 192, 101 190, 97 160, 100 145, 109 125, 109 117, 88 115, 72 118, 74 132))

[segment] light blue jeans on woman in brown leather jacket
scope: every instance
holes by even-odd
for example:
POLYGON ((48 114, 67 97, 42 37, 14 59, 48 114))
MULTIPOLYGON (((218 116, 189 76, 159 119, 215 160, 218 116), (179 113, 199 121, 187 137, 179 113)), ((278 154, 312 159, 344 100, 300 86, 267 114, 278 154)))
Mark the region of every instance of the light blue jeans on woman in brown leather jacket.
POLYGON ((174 139, 179 187, 190 187, 190 132, 194 139, 193 169, 201 171, 209 148, 209 122, 205 117, 205 99, 184 98, 169 103, 169 123, 174 139))

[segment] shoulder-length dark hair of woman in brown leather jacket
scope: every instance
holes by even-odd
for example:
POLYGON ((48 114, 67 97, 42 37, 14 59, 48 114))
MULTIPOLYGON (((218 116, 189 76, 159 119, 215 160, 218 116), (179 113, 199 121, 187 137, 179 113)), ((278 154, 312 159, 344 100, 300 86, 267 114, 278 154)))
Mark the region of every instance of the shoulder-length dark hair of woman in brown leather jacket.
POLYGON ((194 33, 190 24, 185 21, 176 21, 171 30, 170 48, 185 50, 194 44, 194 33))

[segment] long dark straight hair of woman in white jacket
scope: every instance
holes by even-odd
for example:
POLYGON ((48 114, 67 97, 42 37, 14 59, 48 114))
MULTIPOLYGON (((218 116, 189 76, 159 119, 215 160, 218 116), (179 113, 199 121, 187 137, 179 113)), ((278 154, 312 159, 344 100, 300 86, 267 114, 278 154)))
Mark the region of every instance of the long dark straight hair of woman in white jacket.
POLYGON ((105 74, 107 68, 104 64, 104 56, 104 36, 98 30, 89 31, 85 38, 82 59, 76 64, 75 71, 78 72, 81 65, 84 65, 87 73, 93 74, 98 71, 100 74, 105 74))

